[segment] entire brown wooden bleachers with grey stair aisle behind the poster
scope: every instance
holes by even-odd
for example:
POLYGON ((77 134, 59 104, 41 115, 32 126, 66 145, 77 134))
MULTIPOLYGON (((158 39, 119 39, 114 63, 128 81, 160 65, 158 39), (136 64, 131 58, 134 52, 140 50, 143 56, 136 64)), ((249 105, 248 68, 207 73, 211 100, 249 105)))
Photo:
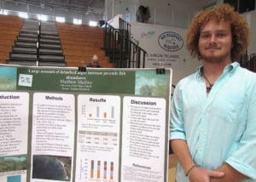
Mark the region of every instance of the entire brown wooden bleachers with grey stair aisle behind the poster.
MULTIPOLYGON (((59 42, 61 43, 61 49, 54 51, 49 50, 49 46, 55 45, 47 44, 48 46, 45 47, 44 42, 56 42, 58 40, 49 40, 49 35, 44 35, 45 23, 42 22, 43 34, 40 37, 42 43, 40 43, 39 51, 37 52, 35 48, 26 48, 28 41, 34 41, 32 39, 36 38, 22 31, 26 21, 17 16, 0 15, 0 64, 36 65, 34 60, 37 54, 39 54, 39 66, 84 66, 90 63, 92 55, 97 54, 101 60, 100 64, 102 67, 114 67, 112 63, 109 63, 108 57, 105 55, 104 50, 102 50, 102 28, 85 25, 76 26, 70 23, 51 23, 55 26, 59 42), (20 44, 22 44, 22 47, 20 47, 20 44), (26 54, 31 54, 31 60, 27 59, 26 54), (61 63, 60 65, 58 59, 62 59, 64 61, 63 64, 61 63)), ((49 27, 47 31, 49 31, 49 27)), ((52 36, 50 38, 52 39, 52 36)))

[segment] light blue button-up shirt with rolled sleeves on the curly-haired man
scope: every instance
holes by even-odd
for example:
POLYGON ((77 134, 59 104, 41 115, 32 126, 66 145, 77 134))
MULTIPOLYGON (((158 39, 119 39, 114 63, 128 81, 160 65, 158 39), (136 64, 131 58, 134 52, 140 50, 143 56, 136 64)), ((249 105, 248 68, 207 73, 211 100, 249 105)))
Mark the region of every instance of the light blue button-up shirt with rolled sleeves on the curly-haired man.
MULTIPOLYGON (((256 181, 256 74, 227 65, 208 95, 201 68, 183 78, 172 97, 170 139, 186 140, 201 168, 227 162, 256 181)), ((179 163, 176 179, 189 181, 179 163)))

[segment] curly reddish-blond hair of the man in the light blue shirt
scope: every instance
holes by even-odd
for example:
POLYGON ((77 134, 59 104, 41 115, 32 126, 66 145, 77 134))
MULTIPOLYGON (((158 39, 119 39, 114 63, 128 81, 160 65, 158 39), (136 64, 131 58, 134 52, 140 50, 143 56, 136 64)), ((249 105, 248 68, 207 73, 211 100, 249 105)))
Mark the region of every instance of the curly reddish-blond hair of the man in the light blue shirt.
POLYGON ((187 33, 187 48, 193 57, 201 57, 198 48, 201 26, 209 20, 230 21, 232 33, 231 60, 238 60, 241 54, 245 54, 250 38, 250 29, 247 20, 238 14, 229 4, 222 4, 214 9, 208 9, 195 14, 187 33))

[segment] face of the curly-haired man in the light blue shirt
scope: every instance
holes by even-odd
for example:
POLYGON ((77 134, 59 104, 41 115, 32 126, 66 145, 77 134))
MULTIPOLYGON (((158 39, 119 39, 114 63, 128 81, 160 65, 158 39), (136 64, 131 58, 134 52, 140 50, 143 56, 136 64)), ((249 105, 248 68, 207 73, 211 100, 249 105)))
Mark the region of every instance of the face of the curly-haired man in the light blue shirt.
POLYGON ((229 21, 210 20, 201 26, 199 52, 203 61, 231 61, 232 33, 229 21))

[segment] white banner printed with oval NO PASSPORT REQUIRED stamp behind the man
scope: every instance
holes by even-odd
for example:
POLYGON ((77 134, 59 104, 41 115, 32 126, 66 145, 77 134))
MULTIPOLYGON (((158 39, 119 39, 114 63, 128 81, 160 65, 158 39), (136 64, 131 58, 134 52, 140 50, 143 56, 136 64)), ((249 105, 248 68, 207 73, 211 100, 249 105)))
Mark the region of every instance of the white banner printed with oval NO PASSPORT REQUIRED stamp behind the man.
POLYGON ((186 48, 187 29, 129 23, 131 39, 147 51, 145 67, 172 68, 174 84, 195 72, 195 68, 201 64, 201 61, 192 59, 186 48))

